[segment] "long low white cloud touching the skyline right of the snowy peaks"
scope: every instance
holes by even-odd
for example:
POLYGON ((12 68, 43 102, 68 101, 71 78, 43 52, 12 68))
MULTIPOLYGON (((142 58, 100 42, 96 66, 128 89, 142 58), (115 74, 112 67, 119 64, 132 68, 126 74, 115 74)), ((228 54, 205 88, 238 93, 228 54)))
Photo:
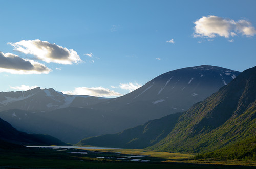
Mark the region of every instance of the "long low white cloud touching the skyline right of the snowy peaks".
POLYGON ((89 96, 97 96, 97 97, 117 97, 121 96, 122 94, 115 92, 113 90, 110 90, 108 88, 103 87, 93 87, 93 88, 87 88, 87 87, 78 87, 75 88, 73 91, 61 91, 63 94, 68 95, 89 95, 89 96))

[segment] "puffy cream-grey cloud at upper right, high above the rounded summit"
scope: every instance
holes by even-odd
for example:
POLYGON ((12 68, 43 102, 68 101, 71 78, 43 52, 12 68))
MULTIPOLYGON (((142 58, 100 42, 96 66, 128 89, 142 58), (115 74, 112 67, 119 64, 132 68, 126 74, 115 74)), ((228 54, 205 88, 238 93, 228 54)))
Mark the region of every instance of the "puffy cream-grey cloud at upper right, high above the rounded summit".
POLYGON ((203 16, 194 24, 194 37, 207 37, 214 38, 216 35, 229 38, 230 36, 237 36, 242 34, 247 37, 254 36, 256 34, 255 28, 247 20, 234 21, 228 18, 222 18, 218 16, 203 16))

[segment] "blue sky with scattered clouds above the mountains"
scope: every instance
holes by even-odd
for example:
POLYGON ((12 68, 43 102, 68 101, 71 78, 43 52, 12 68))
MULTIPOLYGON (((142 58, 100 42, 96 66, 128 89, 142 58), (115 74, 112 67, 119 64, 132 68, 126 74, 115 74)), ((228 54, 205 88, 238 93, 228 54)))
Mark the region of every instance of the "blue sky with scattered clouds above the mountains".
POLYGON ((0 91, 118 97, 176 69, 256 66, 256 1, 0 0, 0 91))

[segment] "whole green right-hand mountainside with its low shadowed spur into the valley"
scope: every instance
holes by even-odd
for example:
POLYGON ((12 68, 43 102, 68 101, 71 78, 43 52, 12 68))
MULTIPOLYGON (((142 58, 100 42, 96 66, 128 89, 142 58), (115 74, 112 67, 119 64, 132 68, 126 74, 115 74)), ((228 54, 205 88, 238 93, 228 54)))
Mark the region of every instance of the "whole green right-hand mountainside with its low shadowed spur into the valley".
POLYGON ((252 158, 256 151, 256 67, 247 69, 218 92, 175 115, 117 134, 86 138, 78 145, 206 153, 198 158, 252 158), (150 137, 147 132, 151 133, 150 137), (156 143, 155 138, 160 140, 156 143))

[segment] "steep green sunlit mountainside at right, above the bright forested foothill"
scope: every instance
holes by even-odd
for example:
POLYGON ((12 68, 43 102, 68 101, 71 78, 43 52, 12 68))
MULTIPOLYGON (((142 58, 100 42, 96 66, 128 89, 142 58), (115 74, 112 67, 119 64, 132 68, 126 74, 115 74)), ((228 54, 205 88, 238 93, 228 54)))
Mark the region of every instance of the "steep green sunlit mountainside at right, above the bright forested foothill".
POLYGON ((172 132, 150 148, 191 153, 213 151, 255 136, 255 118, 256 67, 253 67, 184 112, 172 132))

